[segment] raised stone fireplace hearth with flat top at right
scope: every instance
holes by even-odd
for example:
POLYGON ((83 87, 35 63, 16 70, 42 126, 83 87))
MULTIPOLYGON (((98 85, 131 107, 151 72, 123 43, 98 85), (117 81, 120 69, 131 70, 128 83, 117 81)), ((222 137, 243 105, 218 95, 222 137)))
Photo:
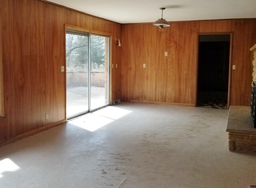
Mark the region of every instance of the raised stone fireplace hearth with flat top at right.
POLYGON ((250 107, 230 106, 226 131, 229 132, 228 150, 256 152, 256 129, 250 107))

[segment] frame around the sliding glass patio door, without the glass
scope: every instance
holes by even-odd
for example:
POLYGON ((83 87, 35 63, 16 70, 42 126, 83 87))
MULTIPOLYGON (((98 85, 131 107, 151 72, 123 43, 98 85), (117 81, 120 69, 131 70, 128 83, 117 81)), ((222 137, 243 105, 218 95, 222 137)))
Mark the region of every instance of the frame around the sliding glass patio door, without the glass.
MULTIPOLYGON (((112 34, 110 33, 105 33, 105 32, 99 32, 99 31, 95 31, 95 30, 90 30, 90 29, 86 29, 86 28, 80 28, 80 27, 76 27, 76 26, 70 26, 65 24, 65 46, 66 46, 66 33, 67 32, 74 32, 74 33, 84 33, 84 34, 88 34, 88 44, 90 44, 90 36, 91 34, 93 35, 98 35, 98 36, 103 36, 103 37, 107 37, 108 38, 108 104, 104 105, 102 107, 108 106, 110 105, 110 100, 112 99, 112 89, 111 89, 111 69, 110 69, 110 65, 112 64, 111 60, 112 60, 112 34)), ((88 63, 88 82, 90 83, 91 81, 91 63, 90 63, 90 45, 88 45, 88 59, 89 59, 89 63, 88 63)), ((66 75, 66 47, 65 47, 65 88, 67 88, 67 75, 66 75)), ((88 105, 89 105, 89 112, 91 111, 91 101, 90 101, 90 97, 91 97, 91 89, 89 88, 89 93, 88 93, 88 97, 89 97, 89 101, 88 101, 88 105)), ((66 114, 66 121, 67 121, 67 89, 65 89, 65 103, 66 103, 66 109, 65 109, 65 114, 66 114)), ((96 109, 95 109, 96 110, 96 109)))

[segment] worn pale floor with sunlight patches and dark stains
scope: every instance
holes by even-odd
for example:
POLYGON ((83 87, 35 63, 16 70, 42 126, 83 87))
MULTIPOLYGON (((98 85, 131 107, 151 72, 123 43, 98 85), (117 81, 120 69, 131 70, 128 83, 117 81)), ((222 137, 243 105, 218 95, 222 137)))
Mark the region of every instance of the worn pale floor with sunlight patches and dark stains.
POLYGON ((247 188, 228 111, 120 103, 0 148, 0 188, 247 188))

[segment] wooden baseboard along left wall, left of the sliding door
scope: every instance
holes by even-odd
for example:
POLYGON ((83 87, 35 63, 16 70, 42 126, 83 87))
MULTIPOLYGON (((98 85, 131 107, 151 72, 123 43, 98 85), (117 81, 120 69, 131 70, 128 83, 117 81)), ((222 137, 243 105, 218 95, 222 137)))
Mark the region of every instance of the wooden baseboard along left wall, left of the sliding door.
POLYGON ((57 121, 57 122, 55 122, 55 123, 46 125, 46 126, 44 126, 44 127, 40 127, 40 128, 38 128, 38 129, 35 129, 35 130, 30 131, 30 132, 28 132, 28 133, 24 133, 24 134, 22 134, 22 135, 18 135, 18 136, 16 136, 16 137, 11 138, 11 139, 8 139, 8 140, 6 140, 6 141, 2 141, 2 142, 0 142, 0 147, 5 146, 5 145, 10 144, 10 143, 13 143, 13 142, 16 142, 16 141, 19 141, 19 140, 21 140, 21 139, 25 139, 26 137, 30 137, 30 136, 32 136, 32 135, 35 135, 35 134, 37 134, 37 133, 40 133, 40 132, 45 131, 45 130, 47 130, 47 129, 50 129, 50 128, 52 128, 52 127, 56 127, 56 126, 58 126, 58 125, 60 125, 60 124, 62 124, 62 123, 66 123, 66 119, 63 119, 63 120, 61 120, 61 121, 57 121))

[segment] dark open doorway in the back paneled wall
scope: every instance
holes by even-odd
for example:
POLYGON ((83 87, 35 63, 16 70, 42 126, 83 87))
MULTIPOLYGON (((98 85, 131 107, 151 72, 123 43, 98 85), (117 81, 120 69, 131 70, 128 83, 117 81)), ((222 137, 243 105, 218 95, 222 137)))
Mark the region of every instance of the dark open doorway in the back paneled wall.
POLYGON ((200 35, 197 106, 228 107, 230 35, 200 35))

